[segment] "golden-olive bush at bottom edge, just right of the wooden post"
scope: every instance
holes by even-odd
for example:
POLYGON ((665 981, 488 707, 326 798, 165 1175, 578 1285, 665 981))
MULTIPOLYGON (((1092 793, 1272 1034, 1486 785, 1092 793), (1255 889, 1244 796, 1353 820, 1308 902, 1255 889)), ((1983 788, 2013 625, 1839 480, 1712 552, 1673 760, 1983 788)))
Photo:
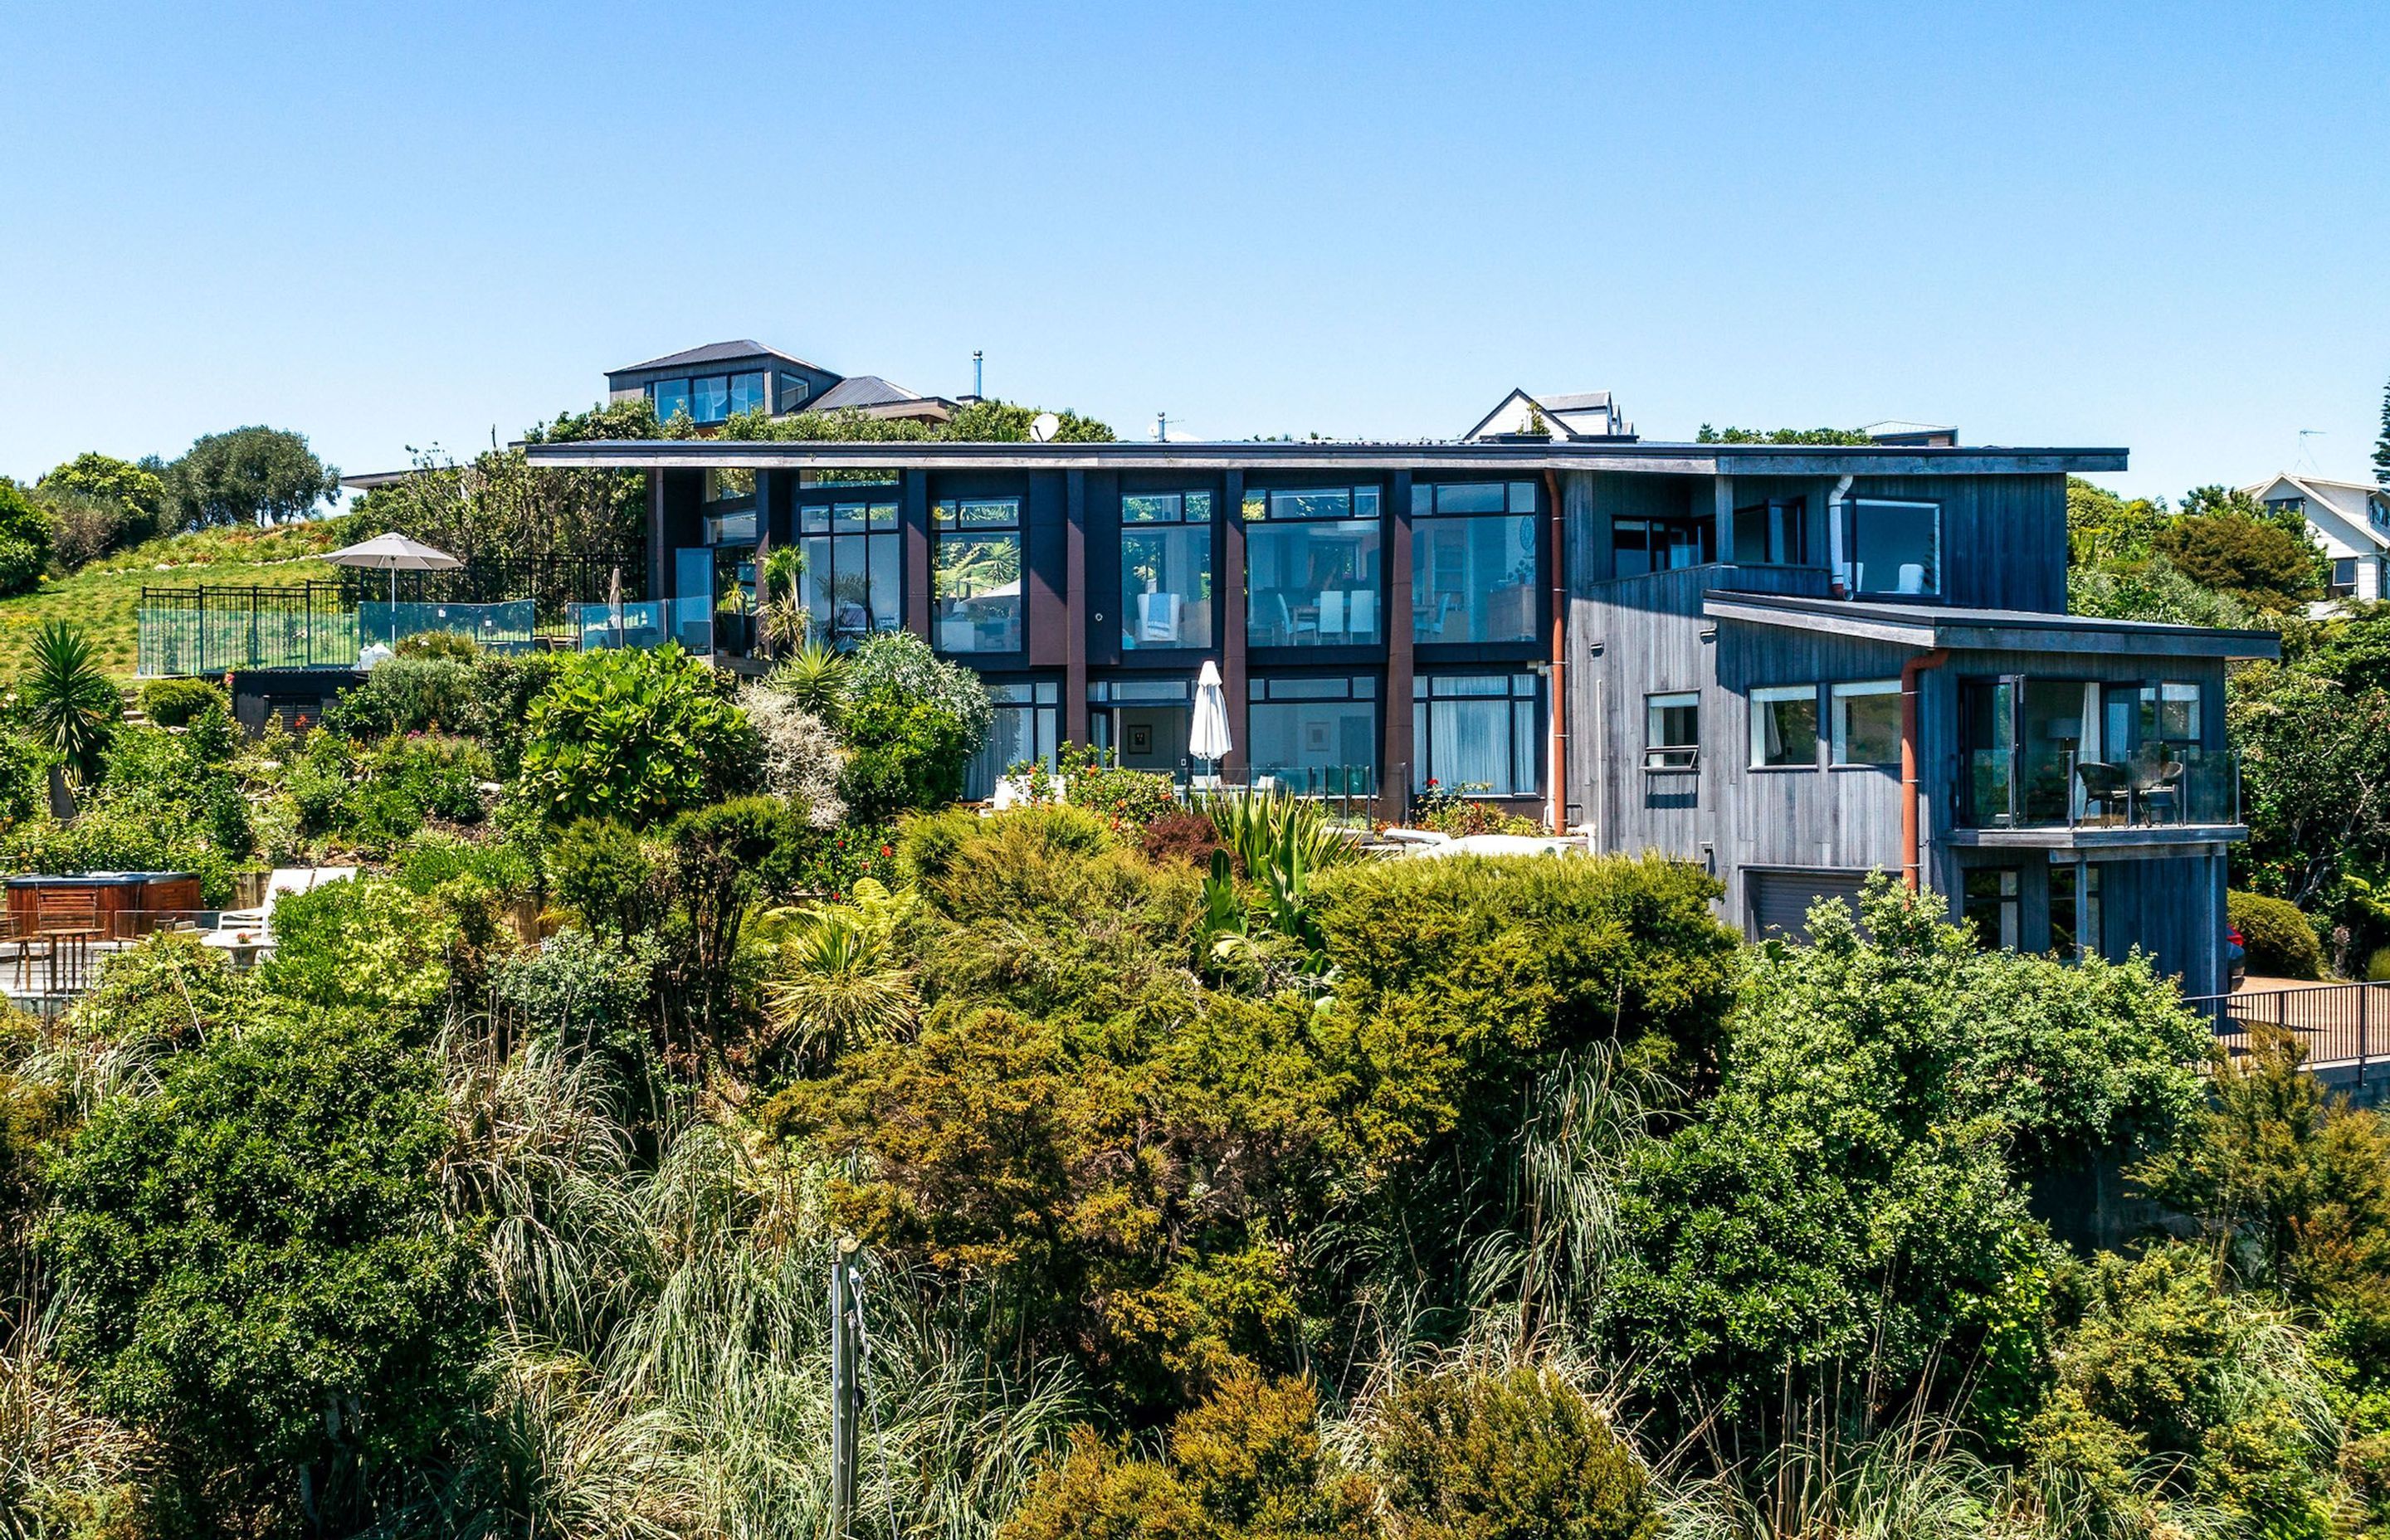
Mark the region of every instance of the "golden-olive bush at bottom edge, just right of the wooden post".
POLYGON ((1305 1380, 1238 1375, 1171 1425, 1169 1459, 1080 1430, 999 1540, 1367 1540, 1369 1483, 1319 1437, 1305 1380))

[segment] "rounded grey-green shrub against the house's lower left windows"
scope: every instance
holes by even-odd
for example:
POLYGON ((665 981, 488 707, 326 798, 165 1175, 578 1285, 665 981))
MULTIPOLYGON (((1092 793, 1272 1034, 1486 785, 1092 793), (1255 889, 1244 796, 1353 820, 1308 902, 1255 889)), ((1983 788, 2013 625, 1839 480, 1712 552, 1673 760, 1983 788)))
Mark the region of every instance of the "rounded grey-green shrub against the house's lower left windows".
POLYGON ((882 631, 846 660, 844 689, 836 727, 848 756, 839 794, 851 818, 884 823, 963 794, 992 720, 978 674, 937 658, 911 631, 882 631))

